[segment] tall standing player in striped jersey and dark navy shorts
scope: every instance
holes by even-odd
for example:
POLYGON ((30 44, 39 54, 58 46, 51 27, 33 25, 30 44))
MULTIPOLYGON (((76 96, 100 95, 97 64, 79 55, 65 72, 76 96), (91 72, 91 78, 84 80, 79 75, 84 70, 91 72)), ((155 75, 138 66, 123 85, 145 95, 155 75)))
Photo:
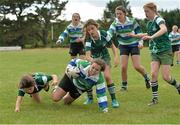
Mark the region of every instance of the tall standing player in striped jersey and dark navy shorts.
POLYGON ((134 69, 139 72, 145 80, 146 88, 150 88, 150 79, 145 71, 145 68, 140 62, 140 49, 143 47, 143 41, 139 38, 131 36, 132 34, 140 34, 141 29, 134 18, 127 17, 126 10, 123 6, 118 6, 115 9, 116 18, 111 24, 108 34, 112 38, 117 37, 120 50, 121 61, 121 90, 126 91, 128 87, 128 59, 131 56, 134 69))

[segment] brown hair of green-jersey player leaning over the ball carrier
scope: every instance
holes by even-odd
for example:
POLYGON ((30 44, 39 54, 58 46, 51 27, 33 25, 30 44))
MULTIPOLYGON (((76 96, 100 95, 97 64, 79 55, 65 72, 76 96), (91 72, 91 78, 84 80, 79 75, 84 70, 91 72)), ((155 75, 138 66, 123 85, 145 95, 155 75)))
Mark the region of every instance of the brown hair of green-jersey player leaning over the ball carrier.
POLYGON ((86 23, 84 24, 84 27, 83 27, 83 30, 85 32, 85 39, 89 38, 90 35, 89 33, 87 32, 86 28, 89 26, 89 25, 94 25, 95 27, 99 28, 99 24, 93 20, 93 19, 89 19, 86 21, 86 23))

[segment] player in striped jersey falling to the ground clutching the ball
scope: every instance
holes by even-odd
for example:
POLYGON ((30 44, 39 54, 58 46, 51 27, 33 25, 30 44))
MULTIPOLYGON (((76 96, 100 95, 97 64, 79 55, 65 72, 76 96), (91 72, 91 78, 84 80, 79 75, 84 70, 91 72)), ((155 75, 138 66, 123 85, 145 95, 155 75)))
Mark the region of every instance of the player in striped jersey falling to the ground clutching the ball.
POLYGON ((88 62, 81 59, 72 59, 67 65, 64 77, 52 93, 55 102, 64 100, 71 104, 84 92, 96 86, 97 101, 103 112, 108 112, 106 85, 101 71, 105 69, 105 62, 100 59, 88 62))

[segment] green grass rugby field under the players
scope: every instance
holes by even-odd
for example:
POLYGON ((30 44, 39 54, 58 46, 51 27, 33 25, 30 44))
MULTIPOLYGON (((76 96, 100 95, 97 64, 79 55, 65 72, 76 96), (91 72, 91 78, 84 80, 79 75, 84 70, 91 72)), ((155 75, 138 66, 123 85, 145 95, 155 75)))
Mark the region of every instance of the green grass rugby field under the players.
MULTIPOLYGON (((70 60, 68 49, 31 49, 0 52, 0 123, 1 124, 178 124, 180 123, 180 95, 159 76, 159 104, 148 107, 151 90, 145 88, 144 80, 131 65, 128 67, 128 92, 120 91, 120 68, 112 67, 120 108, 111 107, 109 112, 98 110, 97 100, 91 105, 83 105, 83 94, 72 105, 54 103, 51 91, 42 91, 42 103, 36 104, 26 94, 21 111, 14 112, 17 84, 23 74, 45 72, 62 77, 70 60)), ((148 48, 141 51, 141 61, 150 72, 148 48)), ((112 63, 113 64, 113 63, 112 63)), ((172 67, 172 74, 180 81, 180 65, 172 67)), ((95 93, 94 93, 95 97, 95 93)))

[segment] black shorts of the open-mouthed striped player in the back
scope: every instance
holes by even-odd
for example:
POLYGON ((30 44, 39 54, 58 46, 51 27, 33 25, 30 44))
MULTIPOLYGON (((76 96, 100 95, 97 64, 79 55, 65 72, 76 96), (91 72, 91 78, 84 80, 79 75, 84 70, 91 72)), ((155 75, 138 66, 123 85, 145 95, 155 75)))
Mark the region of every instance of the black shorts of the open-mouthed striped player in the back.
POLYGON ((77 56, 77 54, 85 55, 84 44, 82 42, 80 42, 80 43, 70 43, 69 54, 71 56, 77 56))

